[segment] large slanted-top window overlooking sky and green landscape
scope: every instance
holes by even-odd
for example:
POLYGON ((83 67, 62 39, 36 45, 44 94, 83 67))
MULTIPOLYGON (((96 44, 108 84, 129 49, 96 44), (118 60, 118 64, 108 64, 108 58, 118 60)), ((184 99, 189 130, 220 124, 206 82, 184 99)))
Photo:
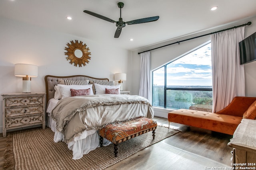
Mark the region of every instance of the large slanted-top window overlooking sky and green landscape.
POLYGON ((211 43, 165 64, 152 74, 153 106, 212 110, 211 43))

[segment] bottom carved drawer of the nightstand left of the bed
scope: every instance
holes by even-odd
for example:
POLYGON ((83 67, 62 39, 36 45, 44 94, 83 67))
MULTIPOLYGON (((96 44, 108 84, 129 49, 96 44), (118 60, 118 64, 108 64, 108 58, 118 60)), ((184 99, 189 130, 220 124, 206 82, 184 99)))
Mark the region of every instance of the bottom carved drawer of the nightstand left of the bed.
POLYGON ((43 115, 33 115, 33 116, 22 116, 16 118, 6 118, 5 125, 6 128, 8 127, 16 127, 22 125, 29 125, 33 123, 42 123, 43 122, 43 115))

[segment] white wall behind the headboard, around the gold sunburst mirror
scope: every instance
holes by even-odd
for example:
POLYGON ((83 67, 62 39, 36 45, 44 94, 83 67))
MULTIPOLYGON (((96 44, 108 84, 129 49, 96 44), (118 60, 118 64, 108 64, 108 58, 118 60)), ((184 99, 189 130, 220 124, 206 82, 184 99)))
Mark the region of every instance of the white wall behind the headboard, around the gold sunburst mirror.
MULTIPOLYGON (((82 74, 114 80, 114 73, 123 72, 127 73, 127 80, 130 79, 128 62, 131 51, 6 18, 0 18, 0 23, 0 94, 22 92, 22 78, 14 76, 16 63, 38 66, 38 77, 32 78, 31 92, 46 92, 44 76, 48 74, 82 74), (76 67, 66 60, 65 47, 72 40, 82 41, 90 48, 91 59, 86 66, 76 67)), ((127 89, 127 85, 124 82, 124 90, 127 89)), ((0 110, 2 112, 2 96, 0 110)))

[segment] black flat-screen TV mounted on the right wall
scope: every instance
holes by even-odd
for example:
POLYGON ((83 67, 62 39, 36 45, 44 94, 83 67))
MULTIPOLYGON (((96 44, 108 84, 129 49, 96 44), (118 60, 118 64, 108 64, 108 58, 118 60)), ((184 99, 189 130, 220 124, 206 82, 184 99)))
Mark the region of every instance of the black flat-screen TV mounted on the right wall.
POLYGON ((256 61, 256 32, 239 42, 240 64, 256 61))

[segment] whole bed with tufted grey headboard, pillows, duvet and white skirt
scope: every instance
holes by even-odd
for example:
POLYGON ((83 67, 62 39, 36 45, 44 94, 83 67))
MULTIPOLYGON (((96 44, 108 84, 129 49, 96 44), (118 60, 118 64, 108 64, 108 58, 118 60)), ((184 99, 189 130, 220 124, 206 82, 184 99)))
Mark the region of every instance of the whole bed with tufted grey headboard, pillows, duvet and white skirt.
MULTIPOLYGON (((47 75, 45 83, 47 125, 54 131, 54 142, 65 142, 72 150, 72 159, 99 147, 97 131, 103 125, 154 116, 147 99, 120 95, 120 85, 108 78, 47 75)), ((109 144, 104 140, 103 145, 109 144)))

